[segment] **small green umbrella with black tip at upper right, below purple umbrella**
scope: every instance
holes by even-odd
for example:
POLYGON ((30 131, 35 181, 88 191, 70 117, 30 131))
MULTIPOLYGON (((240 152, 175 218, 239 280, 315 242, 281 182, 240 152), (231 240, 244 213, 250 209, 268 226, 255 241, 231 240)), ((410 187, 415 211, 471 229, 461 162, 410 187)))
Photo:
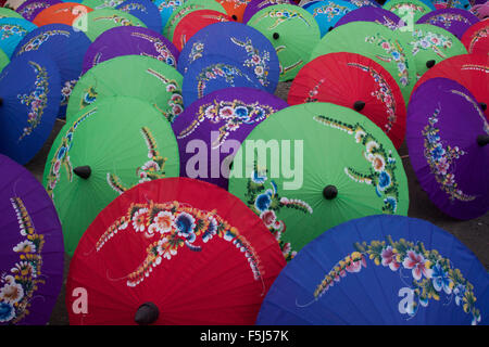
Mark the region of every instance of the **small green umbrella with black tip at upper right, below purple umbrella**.
POLYGON ((413 30, 398 30, 398 34, 414 56, 417 79, 447 57, 468 54, 456 36, 435 25, 415 24, 413 30))

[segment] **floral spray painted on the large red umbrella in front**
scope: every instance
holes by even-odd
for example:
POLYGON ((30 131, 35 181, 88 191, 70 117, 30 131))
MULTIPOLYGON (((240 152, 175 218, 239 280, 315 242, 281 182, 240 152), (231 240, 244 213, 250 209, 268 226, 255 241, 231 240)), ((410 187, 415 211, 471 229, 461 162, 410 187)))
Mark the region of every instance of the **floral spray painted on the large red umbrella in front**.
POLYGON ((199 246, 197 241, 201 240, 208 244, 217 236, 231 243, 242 254, 251 268, 253 279, 261 281, 263 291, 265 290, 263 269, 256 252, 239 230, 215 210, 201 210, 179 202, 131 204, 127 214, 115 220, 99 239, 96 244, 97 252, 101 252, 115 234, 129 231, 127 229, 129 224, 133 226, 134 232, 156 240, 148 246, 146 259, 126 277, 128 286, 137 286, 151 277, 164 259, 176 257, 181 247, 186 246, 192 252, 204 252, 203 246, 199 246))

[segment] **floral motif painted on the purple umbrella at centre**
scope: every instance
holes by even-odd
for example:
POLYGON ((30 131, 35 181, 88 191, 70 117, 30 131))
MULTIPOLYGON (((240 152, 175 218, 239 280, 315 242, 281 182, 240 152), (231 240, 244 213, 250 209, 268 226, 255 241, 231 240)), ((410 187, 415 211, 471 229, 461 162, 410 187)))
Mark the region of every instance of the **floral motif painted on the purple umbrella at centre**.
POLYGON ((259 102, 252 104, 243 103, 239 100, 217 101, 203 104, 199 107, 198 117, 177 134, 177 139, 185 139, 190 136, 204 121, 212 124, 223 124, 220 128, 217 139, 212 142, 212 147, 220 147, 230 132, 237 131, 242 125, 254 125, 269 115, 277 112, 272 106, 262 105, 259 102))

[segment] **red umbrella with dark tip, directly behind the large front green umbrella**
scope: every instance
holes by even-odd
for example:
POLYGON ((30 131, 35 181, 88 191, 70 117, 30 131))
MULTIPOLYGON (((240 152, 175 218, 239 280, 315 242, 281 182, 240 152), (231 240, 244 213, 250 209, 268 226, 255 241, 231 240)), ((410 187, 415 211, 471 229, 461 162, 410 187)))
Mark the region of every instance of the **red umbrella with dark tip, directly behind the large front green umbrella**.
POLYGON ((405 103, 390 74, 355 53, 329 53, 309 62, 290 86, 287 102, 330 102, 362 113, 397 149, 404 140, 405 103))

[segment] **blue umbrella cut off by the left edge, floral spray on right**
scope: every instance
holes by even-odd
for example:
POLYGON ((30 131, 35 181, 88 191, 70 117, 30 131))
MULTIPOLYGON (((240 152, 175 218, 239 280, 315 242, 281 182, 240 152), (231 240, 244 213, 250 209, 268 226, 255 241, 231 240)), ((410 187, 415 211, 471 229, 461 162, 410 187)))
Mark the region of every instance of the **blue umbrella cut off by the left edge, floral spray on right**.
POLYGON ((40 52, 13 59, 0 74, 0 153, 24 165, 48 140, 60 107, 60 73, 40 52))

